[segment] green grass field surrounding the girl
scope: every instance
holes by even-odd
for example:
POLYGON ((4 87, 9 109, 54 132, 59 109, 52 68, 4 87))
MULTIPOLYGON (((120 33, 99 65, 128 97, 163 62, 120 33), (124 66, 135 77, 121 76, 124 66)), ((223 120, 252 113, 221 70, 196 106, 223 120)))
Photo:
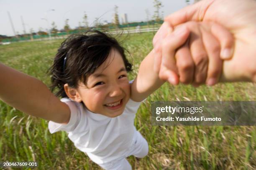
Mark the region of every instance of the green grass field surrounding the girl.
MULTIPOLYGON (((152 38, 152 32, 121 38, 134 64, 134 71, 129 75, 131 80, 141 60, 151 50, 152 38)), ((62 41, 2 45, 0 62, 49 85, 46 70, 62 41)), ((256 100, 255 92, 256 85, 245 82, 198 88, 164 84, 142 103, 136 115, 135 125, 148 141, 149 154, 141 160, 129 157, 129 162, 138 170, 256 169, 256 128, 253 126, 170 127, 153 126, 150 120, 150 101, 256 100)), ((36 161, 38 170, 100 169, 74 147, 65 132, 51 135, 47 126, 48 121, 28 116, 0 101, 0 161, 36 161)))

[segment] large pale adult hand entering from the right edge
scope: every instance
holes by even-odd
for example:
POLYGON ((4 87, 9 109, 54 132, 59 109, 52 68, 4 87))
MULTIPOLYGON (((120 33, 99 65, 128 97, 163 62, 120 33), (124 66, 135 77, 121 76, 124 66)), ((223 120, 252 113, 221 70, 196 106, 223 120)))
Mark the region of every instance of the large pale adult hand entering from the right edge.
MULTIPOLYGON (((255 0, 202 0, 165 18, 168 24, 154 37, 164 37, 166 27, 175 27, 189 20, 213 21, 227 28, 235 38, 232 60, 223 63, 221 81, 256 82, 256 1, 255 0)), ((218 34, 218 29, 212 32, 218 34)), ((222 36, 219 36, 222 37, 222 36)), ((230 48, 221 48, 221 57, 229 58, 230 48)), ((168 63, 165 63, 168 64, 168 63)))

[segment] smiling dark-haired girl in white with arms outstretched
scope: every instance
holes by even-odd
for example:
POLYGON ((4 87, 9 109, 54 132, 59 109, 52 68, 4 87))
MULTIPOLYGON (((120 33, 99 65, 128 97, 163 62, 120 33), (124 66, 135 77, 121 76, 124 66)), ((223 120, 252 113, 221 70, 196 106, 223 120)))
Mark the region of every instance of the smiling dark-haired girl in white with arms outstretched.
MULTIPOLYGON (((171 35, 169 50, 175 52, 189 30, 180 27, 171 35)), ((29 115, 50 120, 51 133, 66 131, 74 145, 102 168, 129 170, 126 157, 148 154, 148 143, 133 120, 141 101, 164 83, 153 64, 154 50, 141 62, 136 79, 129 81, 132 65, 117 40, 88 31, 62 42, 54 58, 51 90, 58 89, 61 101, 40 80, 3 64, 0 98, 29 115)))

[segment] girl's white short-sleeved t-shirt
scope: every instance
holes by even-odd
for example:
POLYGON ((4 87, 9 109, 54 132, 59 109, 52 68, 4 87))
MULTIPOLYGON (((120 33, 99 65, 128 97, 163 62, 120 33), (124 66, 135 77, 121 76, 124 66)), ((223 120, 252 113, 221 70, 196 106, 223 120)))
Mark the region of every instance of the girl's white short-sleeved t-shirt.
POLYGON ((50 121, 50 133, 66 131, 75 147, 97 164, 124 157, 136 131, 134 118, 141 102, 128 100, 122 115, 111 118, 90 112, 82 103, 69 98, 61 101, 71 110, 70 120, 67 125, 50 121))

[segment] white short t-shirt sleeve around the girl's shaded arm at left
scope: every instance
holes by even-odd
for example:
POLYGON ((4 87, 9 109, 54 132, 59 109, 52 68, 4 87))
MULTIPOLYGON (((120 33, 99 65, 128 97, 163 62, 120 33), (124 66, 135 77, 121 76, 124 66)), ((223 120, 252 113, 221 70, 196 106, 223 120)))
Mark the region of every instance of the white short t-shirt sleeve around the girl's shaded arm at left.
POLYGON ((69 109, 71 111, 69 122, 65 125, 65 124, 49 121, 48 128, 50 133, 55 133, 61 130, 66 131, 67 133, 72 132, 77 127, 79 121, 81 120, 80 119, 81 111, 79 110, 79 107, 77 105, 78 103, 67 98, 61 99, 61 102, 66 103, 69 106, 69 109))

